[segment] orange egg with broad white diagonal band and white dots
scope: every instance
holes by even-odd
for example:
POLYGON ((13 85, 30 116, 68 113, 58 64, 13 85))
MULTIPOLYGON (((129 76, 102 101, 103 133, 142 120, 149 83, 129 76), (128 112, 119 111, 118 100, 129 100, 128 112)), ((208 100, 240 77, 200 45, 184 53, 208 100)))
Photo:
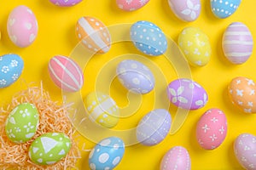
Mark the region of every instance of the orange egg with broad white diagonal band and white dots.
POLYGON ((105 54, 111 47, 107 26, 94 17, 81 17, 76 24, 76 35, 85 48, 97 54, 105 54))

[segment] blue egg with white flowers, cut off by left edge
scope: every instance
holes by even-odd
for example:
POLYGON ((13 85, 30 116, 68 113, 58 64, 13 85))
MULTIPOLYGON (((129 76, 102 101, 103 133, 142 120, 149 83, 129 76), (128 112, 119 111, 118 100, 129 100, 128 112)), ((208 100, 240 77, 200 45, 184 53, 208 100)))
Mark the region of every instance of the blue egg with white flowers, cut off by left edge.
POLYGON ((5 54, 0 57, 0 88, 6 88, 16 82, 23 70, 24 62, 17 54, 5 54))

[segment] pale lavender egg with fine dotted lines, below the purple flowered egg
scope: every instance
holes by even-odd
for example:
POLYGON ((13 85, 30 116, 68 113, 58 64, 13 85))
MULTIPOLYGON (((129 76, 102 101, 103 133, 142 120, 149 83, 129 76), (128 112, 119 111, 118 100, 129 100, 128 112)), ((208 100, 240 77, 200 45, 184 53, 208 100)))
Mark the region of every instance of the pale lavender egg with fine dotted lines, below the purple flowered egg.
POLYGON ((166 138, 172 124, 171 114, 164 109, 150 111, 137 125, 137 141, 152 146, 166 138))

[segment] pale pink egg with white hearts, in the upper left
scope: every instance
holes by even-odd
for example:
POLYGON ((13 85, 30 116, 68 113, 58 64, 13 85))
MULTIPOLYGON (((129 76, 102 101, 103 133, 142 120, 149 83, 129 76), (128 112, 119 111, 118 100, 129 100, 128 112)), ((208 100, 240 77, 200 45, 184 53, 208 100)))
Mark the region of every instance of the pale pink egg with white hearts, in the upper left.
POLYGON ((38 36, 38 20, 30 8, 20 5, 9 14, 7 31, 16 46, 26 48, 38 36))

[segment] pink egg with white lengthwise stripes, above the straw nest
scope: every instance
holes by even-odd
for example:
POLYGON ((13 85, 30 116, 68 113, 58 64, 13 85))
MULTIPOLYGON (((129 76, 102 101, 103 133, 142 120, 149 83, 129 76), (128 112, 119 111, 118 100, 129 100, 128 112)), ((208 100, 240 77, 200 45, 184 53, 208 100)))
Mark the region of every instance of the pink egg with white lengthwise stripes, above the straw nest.
POLYGON ((83 71, 73 59, 57 55, 49 60, 48 70, 52 81, 64 91, 79 91, 84 84, 83 71))

